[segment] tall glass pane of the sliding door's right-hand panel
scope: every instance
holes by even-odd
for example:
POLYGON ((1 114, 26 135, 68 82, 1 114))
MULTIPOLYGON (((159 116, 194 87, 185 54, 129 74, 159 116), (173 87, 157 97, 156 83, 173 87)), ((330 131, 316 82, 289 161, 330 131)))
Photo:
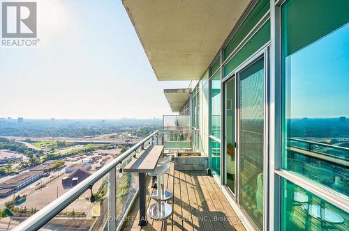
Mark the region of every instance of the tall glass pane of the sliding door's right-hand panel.
POLYGON ((239 73, 239 203, 262 230, 264 59, 239 73))

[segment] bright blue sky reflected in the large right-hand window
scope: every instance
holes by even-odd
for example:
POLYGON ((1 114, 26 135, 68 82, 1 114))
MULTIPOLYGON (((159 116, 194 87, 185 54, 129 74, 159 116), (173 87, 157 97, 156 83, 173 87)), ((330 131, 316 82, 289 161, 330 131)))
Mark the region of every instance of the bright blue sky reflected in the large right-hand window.
POLYGON ((349 24, 286 58, 290 118, 349 117, 349 24))

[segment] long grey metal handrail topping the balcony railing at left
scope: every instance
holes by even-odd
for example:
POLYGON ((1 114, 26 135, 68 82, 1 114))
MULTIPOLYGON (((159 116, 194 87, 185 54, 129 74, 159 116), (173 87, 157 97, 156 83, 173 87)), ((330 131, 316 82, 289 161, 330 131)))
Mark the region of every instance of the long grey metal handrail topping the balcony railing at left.
POLYGON ((54 216, 59 214, 63 209, 65 209, 68 205, 70 205, 74 200, 79 198, 82 193, 87 191, 89 189, 89 186, 94 185, 98 180, 101 180, 102 177, 107 175, 107 173, 110 173, 110 171, 118 166, 119 164, 124 161, 124 159, 130 157, 134 151, 136 151, 138 148, 140 148, 144 143, 149 141, 150 138, 158 135, 158 130, 156 132, 153 132, 146 138, 144 138, 142 141, 137 143, 136 145, 133 145, 132 148, 124 152, 123 154, 119 155, 116 159, 112 160, 109 164, 106 166, 103 166, 100 170, 98 170, 96 173, 90 175, 82 181, 80 184, 77 184, 77 186, 73 187, 73 189, 70 189, 66 193, 64 193, 62 196, 57 198, 56 200, 50 202, 50 204, 46 205, 43 209, 40 209, 36 214, 30 216, 27 218, 27 220, 20 223, 20 225, 17 225, 13 230, 19 231, 19 230, 38 230, 39 228, 43 227, 48 221, 50 221, 54 216))

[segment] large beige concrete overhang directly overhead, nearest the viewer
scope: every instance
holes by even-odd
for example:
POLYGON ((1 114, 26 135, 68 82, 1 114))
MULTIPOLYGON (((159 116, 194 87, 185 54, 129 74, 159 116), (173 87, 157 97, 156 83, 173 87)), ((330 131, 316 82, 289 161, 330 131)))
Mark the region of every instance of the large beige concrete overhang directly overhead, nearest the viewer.
POLYGON ((122 0, 158 80, 198 80, 249 0, 122 0))

